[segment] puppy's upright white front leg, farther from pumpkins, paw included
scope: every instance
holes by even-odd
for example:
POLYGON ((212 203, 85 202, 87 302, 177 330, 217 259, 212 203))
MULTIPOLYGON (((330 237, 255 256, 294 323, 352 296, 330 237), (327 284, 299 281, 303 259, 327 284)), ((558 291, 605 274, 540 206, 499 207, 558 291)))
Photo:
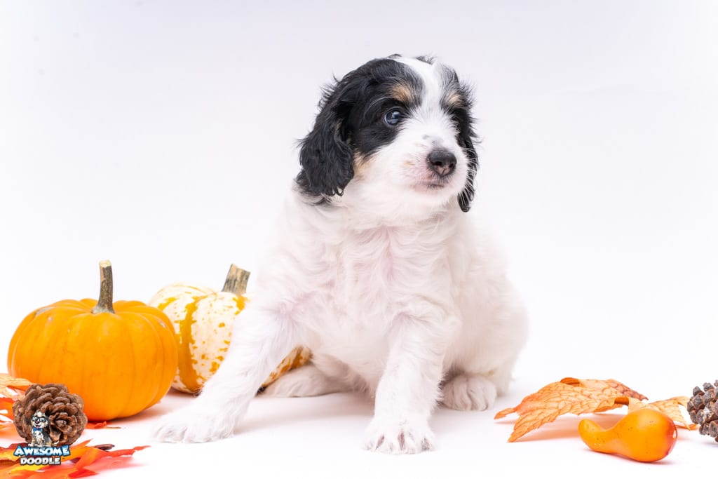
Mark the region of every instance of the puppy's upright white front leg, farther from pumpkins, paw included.
POLYGON ((449 322, 400 315, 376 390, 365 447, 406 454, 434 448, 429 417, 439 398, 449 322))

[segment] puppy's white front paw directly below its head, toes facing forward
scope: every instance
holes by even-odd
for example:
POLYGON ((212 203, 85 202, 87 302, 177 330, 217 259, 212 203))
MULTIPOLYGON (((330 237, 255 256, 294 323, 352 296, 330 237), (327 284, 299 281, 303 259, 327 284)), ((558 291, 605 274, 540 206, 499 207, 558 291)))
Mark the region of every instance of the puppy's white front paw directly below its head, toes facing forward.
POLYGON ((389 454, 416 454, 434 449, 434 434, 424 420, 375 417, 366 430, 365 448, 389 454))

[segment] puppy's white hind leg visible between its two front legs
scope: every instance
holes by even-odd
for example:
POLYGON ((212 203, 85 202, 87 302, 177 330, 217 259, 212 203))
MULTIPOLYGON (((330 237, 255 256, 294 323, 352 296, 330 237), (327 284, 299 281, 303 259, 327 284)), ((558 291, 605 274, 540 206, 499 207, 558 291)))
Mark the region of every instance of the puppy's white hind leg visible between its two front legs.
POLYGON ((314 363, 292 369, 271 383, 262 392, 271 397, 306 397, 349 391, 349 386, 322 373, 314 363))

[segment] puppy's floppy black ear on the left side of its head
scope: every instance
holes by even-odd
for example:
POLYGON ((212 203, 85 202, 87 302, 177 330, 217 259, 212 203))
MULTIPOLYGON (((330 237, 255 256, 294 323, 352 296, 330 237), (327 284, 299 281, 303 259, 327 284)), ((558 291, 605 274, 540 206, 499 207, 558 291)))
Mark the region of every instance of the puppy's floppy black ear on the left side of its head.
POLYGON ((325 90, 314 128, 302 140, 297 184, 307 195, 342 195, 354 176, 353 149, 348 144, 346 121, 355 103, 350 78, 325 90))

